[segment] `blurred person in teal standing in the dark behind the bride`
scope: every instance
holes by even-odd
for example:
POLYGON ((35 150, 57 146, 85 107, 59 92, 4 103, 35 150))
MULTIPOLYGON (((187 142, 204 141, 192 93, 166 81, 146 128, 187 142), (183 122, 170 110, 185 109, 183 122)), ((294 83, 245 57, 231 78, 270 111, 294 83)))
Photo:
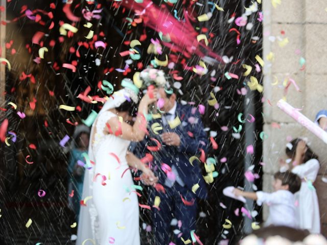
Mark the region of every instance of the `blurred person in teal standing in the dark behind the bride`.
POLYGON ((87 154, 90 129, 85 125, 78 125, 73 134, 71 155, 68 165, 68 203, 74 210, 76 220, 80 212, 80 200, 82 199, 85 159, 87 154))

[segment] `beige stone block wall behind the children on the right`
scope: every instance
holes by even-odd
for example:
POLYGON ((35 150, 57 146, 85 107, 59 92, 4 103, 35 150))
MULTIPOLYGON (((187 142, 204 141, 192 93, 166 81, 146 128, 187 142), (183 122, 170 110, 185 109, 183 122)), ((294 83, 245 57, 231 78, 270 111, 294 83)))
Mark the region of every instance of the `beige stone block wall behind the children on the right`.
MULTIPOLYGON (((282 0, 273 8, 271 1, 263 0, 263 56, 264 97, 272 106, 264 103, 264 131, 269 138, 264 141, 264 184, 265 191, 271 191, 272 174, 278 170, 278 159, 284 157, 286 138, 308 137, 312 150, 318 154, 320 173, 315 182, 318 192, 322 233, 327 235, 327 183, 321 181, 327 169, 327 145, 291 117, 279 110, 276 103, 283 98, 285 78, 292 78, 300 92, 290 86, 287 102, 314 120, 320 109, 327 109, 327 1, 326 0, 282 0), (285 31, 285 35, 281 34, 285 31), (270 34, 269 34, 270 33, 270 34), (271 42, 269 36, 287 37, 289 43, 281 47, 277 38, 271 42), (300 51, 300 54, 296 54, 300 51), (274 53, 274 61, 266 56, 274 53), (306 69, 301 71, 299 59, 306 59, 306 69), (278 78, 278 85, 272 85, 278 78), (281 128, 272 128, 277 122, 281 128)), ((327 177, 327 174, 326 176, 327 177)), ((267 215, 265 210, 264 218, 267 215)))

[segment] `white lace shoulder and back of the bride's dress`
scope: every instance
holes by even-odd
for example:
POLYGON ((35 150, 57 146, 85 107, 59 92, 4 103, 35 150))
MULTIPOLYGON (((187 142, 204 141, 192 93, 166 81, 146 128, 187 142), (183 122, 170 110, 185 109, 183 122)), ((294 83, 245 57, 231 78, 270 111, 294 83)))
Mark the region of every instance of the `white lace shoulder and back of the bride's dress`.
POLYGON ((108 136, 112 136, 110 134, 104 134, 104 130, 107 127, 106 123, 107 121, 111 118, 116 116, 114 113, 111 111, 106 111, 103 112, 97 119, 96 121, 96 127, 95 127, 95 132, 94 136, 92 138, 94 139, 92 142, 92 150, 94 152, 94 155, 97 155, 97 152, 99 150, 99 145, 101 145, 101 142, 105 140, 108 136))

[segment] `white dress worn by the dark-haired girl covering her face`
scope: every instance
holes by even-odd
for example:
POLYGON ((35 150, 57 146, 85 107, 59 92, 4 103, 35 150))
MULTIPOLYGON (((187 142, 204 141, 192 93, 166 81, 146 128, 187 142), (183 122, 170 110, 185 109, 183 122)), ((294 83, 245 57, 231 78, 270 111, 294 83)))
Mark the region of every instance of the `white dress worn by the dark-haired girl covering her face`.
POLYGON ((317 192, 311 184, 316 180, 319 171, 317 159, 311 159, 306 163, 295 166, 292 173, 297 174, 301 179, 301 188, 295 193, 295 200, 298 201, 296 214, 299 228, 307 229, 311 233, 320 233, 320 214, 317 192), (306 180, 305 180, 306 178, 306 180))

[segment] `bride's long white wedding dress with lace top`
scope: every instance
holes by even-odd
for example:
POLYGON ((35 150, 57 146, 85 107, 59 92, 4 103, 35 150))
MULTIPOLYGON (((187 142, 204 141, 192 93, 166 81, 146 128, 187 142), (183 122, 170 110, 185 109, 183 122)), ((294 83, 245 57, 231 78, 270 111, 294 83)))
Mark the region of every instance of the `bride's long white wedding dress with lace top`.
POLYGON ((95 165, 86 170, 82 197, 91 198, 81 206, 77 245, 86 239, 85 245, 140 244, 138 200, 126 162, 130 141, 104 133, 111 117, 116 115, 99 113, 92 127, 89 157, 95 165))

